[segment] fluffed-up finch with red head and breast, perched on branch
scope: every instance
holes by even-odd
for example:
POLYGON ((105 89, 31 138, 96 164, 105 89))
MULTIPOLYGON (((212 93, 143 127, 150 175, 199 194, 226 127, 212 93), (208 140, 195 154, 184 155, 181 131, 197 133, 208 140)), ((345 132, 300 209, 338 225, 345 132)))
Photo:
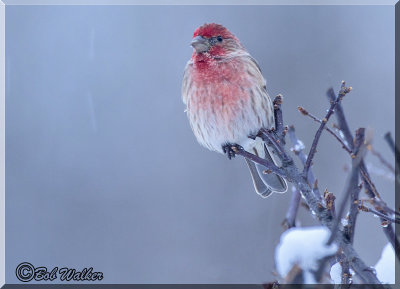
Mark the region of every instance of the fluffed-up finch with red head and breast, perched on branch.
MULTIPOLYGON (((235 156, 241 146, 259 157, 273 158, 262 139, 261 128, 275 124, 273 104, 260 67, 239 40, 222 25, 197 28, 192 58, 185 67, 182 98, 193 133, 204 147, 235 156)), ((284 193, 287 184, 266 168, 246 159, 256 192, 262 197, 284 193)))

